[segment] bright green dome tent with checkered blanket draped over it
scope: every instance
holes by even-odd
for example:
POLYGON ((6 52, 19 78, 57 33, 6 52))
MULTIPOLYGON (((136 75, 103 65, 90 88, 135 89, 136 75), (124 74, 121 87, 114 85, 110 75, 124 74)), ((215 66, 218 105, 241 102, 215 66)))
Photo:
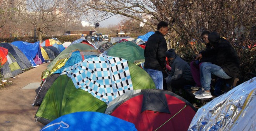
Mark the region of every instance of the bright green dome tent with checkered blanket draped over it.
MULTIPOLYGON (((96 57, 93 57, 96 58, 96 57)), ((92 58, 92 59, 93 59, 92 58)), ((99 57, 102 58, 102 57, 99 57)), ((115 57, 116 60, 120 59, 118 57, 115 57)), ((91 58, 90 58, 91 59, 91 58)), ((36 118, 39 122, 43 124, 48 124, 50 121, 53 121, 54 119, 65 115, 69 113, 74 113, 78 111, 96 111, 100 113, 104 113, 106 108, 107 108, 107 102, 103 101, 99 97, 95 96, 97 94, 100 94, 98 92, 93 92, 93 89, 97 88, 100 80, 95 80, 95 75, 97 75, 97 66, 93 67, 92 65, 89 65, 88 67, 83 68, 80 66, 83 63, 88 63, 89 59, 86 59, 82 62, 79 62, 78 64, 75 64, 74 66, 67 67, 63 72, 62 75, 59 76, 50 89, 47 91, 47 94, 45 95, 41 106, 38 108, 38 111, 36 113, 36 118), (86 61, 87 60, 87 61, 86 61), (81 69, 86 69, 86 70, 80 70, 81 69), (78 82, 74 82, 75 79, 78 79, 78 77, 74 78, 71 76, 75 76, 74 74, 77 75, 77 73, 71 74, 68 76, 67 74, 65 75, 64 72, 67 72, 67 70, 70 68, 70 71, 76 71, 78 74, 80 72, 86 72, 86 76, 84 76, 82 79, 82 83, 78 84, 78 82), (93 73, 90 73, 93 72, 93 73), (87 79, 86 79, 87 78, 87 79), (85 84, 85 86, 78 88, 78 85, 85 84), (77 89, 78 88, 78 89, 77 89), (86 89, 88 89, 86 91, 86 89), (94 95, 93 95, 94 94, 94 95)), ((121 60, 121 59, 120 59, 121 60)), ((101 62, 99 61, 92 61, 94 63, 97 63, 95 65, 99 66, 99 63, 107 62, 107 60, 102 60, 101 62)), ((109 60, 111 62, 111 60, 109 60)), ((116 64, 119 62, 114 62, 111 64, 116 64)), ((121 65, 121 64, 120 64, 121 65)), ((123 66, 123 65, 122 65, 123 66)), ((113 67, 116 67, 114 65, 113 67)), ((118 67, 118 66, 117 66, 118 67)), ((128 71, 128 75, 126 72, 127 77, 130 77, 131 83, 132 83, 132 88, 133 90, 137 89, 155 89, 155 84, 151 77, 145 72, 143 69, 140 67, 136 66, 135 64, 132 64, 128 62, 128 70, 127 68, 123 68, 128 71)), ((112 70, 112 67, 111 67, 112 70)), ((122 69, 121 69, 122 70, 122 69)), ((121 71, 119 70, 119 71, 121 71)), ((106 70, 103 70, 106 71, 106 70)), ((99 70, 100 72, 100 70, 99 70)), ((110 72, 110 71, 106 71, 110 72)), ((123 81, 126 82, 128 79, 126 77, 123 77, 122 75, 120 76, 119 74, 113 74, 113 76, 105 76, 108 73, 104 73, 104 76, 102 76, 102 79, 107 78, 111 79, 111 77, 116 77, 120 79, 113 78, 111 81, 123 81), (103 78, 104 77, 104 78, 103 78)), ((98 74, 99 76, 100 74, 98 74)), ((100 78, 100 77, 99 77, 100 78)), ((101 80, 102 80, 101 79, 101 80)), ((126 83, 123 83, 126 84, 126 83)), ((125 93, 125 90, 119 90, 123 88, 122 86, 118 86, 117 89, 118 91, 114 92, 114 94, 123 94, 125 93), (117 93, 118 92, 118 93, 117 93)), ((106 86, 107 84, 103 84, 102 86, 106 86)), ((117 85, 117 84, 115 84, 117 85)), ((130 84, 131 85, 131 84, 130 84)), ((112 84, 114 86, 114 84, 112 84)), ((110 86, 110 87, 112 87, 110 86)), ((105 89, 105 88, 104 88, 105 89)), ((111 88, 112 89, 112 88, 111 88)), ((129 90, 129 89, 127 89, 129 90)), ((127 91, 126 90, 126 91, 127 91)), ((107 92, 104 94, 108 94, 107 92)), ((111 93, 109 95, 111 97, 111 93)), ((106 95, 106 97, 108 97, 106 95)))

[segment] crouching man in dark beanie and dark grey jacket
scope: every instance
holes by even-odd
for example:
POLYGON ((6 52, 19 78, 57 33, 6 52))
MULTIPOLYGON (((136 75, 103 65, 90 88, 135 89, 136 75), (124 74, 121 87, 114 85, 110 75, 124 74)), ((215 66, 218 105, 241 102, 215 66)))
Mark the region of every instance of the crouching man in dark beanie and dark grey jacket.
POLYGON ((164 78, 168 91, 175 92, 176 89, 183 89, 185 85, 194 85, 190 66, 175 53, 175 49, 169 49, 166 57, 170 61, 171 72, 164 78))

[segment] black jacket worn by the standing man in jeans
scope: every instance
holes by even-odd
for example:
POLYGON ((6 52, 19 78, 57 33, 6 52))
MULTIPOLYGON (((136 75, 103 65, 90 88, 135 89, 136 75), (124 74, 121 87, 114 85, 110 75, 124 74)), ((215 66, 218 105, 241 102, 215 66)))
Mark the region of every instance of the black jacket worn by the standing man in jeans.
POLYGON ((156 31, 147 41, 144 50, 145 68, 163 71, 166 65, 165 52, 167 51, 166 40, 161 32, 156 31))

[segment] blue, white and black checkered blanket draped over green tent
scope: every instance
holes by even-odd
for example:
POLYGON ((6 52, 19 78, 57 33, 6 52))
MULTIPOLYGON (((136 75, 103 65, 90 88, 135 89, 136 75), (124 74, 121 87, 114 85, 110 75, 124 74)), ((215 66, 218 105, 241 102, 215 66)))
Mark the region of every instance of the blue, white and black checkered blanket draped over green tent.
POLYGON ((92 57, 67 67, 63 74, 72 79, 77 89, 88 91, 107 104, 125 91, 133 90, 128 62, 119 57, 92 57))

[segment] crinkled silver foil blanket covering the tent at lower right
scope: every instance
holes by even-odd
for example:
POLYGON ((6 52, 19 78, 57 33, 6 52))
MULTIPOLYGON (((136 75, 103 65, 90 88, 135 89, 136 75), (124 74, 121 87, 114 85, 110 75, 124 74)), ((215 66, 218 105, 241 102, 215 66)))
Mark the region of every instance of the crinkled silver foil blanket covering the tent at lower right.
POLYGON ((216 97, 195 114, 189 131, 255 131, 256 77, 216 97))

